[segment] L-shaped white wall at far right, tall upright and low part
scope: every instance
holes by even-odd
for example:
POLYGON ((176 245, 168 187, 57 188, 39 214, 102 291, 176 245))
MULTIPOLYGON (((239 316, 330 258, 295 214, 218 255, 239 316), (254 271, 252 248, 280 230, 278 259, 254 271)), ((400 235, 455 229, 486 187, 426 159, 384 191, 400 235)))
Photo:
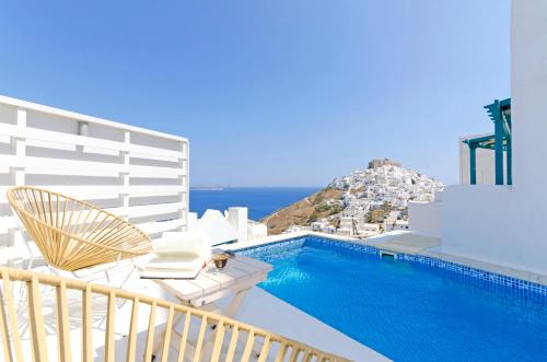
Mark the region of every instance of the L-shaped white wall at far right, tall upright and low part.
MULTIPOLYGON (((546 19, 545 0, 512 2, 513 186, 450 186, 441 203, 443 252, 544 275, 547 273, 546 19)), ((409 218, 412 217, 410 212, 409 218)))

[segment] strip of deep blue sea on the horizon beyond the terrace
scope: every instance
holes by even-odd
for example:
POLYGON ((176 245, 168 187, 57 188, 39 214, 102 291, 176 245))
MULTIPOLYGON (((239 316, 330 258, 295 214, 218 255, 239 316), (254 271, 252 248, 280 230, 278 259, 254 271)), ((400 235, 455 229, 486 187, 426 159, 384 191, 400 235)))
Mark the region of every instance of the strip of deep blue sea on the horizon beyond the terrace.
POLYGON ((248 208, 248 218, 260 220, 270 213, 318 191, 319 187, 190 188, 190 211, 200 218, 207 209, 248 208))

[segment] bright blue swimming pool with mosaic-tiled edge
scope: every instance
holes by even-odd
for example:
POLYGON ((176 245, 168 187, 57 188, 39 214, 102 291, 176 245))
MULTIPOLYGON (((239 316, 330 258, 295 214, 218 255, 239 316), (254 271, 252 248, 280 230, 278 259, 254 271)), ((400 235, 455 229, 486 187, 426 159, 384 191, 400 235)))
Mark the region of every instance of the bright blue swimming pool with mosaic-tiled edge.
POLYGON ((314 236, 238 253, 274 265, 260 288, 395 361, 547 361, 543 285, 314 236))

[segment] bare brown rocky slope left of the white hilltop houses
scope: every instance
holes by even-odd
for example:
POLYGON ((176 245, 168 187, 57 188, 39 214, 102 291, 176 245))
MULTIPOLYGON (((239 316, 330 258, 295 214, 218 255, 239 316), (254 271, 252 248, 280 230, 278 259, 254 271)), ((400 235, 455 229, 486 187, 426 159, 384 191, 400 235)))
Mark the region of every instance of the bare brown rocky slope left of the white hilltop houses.
POLYGON ((260 222, 268 225, 270 235, 280 234, 292 225, 310 225, 317 219, 327 218, 341 212, 342 190, 327 187, 303 200, 294 202, 287 208, 276 211, 260 222))

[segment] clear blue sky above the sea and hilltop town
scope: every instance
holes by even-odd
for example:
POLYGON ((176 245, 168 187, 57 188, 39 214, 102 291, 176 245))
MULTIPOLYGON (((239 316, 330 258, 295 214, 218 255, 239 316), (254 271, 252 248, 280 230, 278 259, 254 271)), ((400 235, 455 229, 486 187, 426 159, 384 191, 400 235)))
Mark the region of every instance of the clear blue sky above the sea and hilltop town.
POLYGON ((189 138, 194 186, 389 156, 452 184, 510 95, 509 0, 10 1, 0 94, 189 138))

